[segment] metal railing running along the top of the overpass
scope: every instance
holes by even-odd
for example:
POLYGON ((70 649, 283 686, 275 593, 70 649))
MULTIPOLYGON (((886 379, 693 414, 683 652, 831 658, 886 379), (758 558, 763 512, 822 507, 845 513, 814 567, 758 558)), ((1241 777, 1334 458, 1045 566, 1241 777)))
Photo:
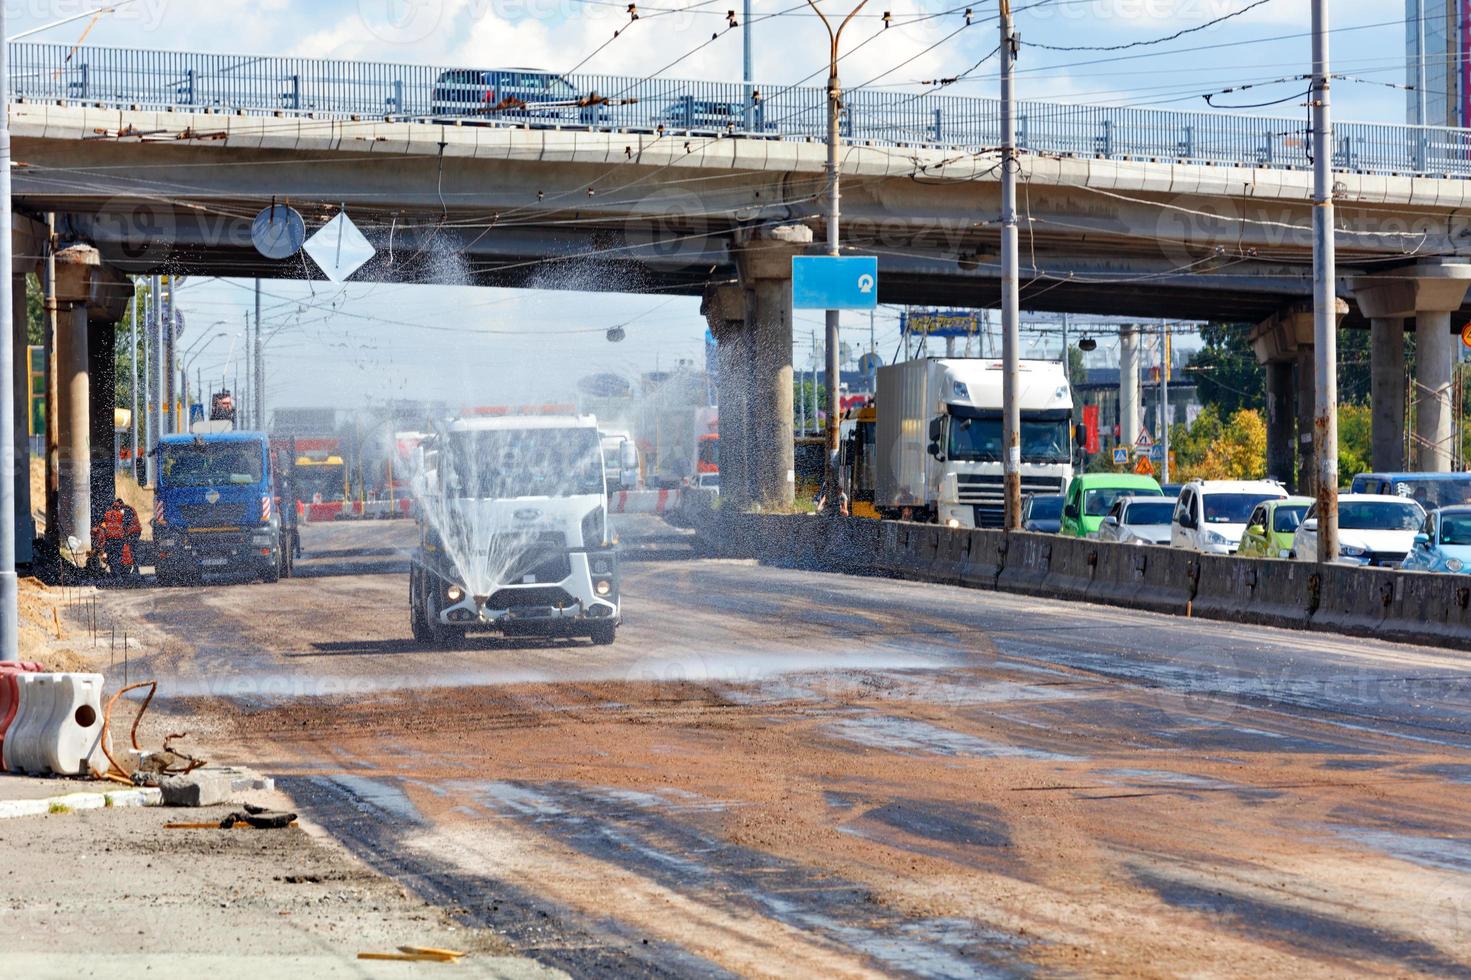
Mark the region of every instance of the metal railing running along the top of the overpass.
MULTIPOLYGON (((474 121, 610 131, 825 137, 815 85, 559 75, 534 69, 199 54, 69 44, 10 44, 12 97, 109 107, 474 121), (608 102, 602 102, 606 99, 608 102), (583 103, 583 104, 580 104, 583 103)), ((1022 102, 1025 150, 1118 160, 1312 166, 1305 116, 1244 116, 1022 102)), ((1471 177, 1471 129, 1340 122, 1334 168, 1364 174, 1471 177)), ((843 137, 872 146, 994 147, 1000 103, 856 88, 843 137)))

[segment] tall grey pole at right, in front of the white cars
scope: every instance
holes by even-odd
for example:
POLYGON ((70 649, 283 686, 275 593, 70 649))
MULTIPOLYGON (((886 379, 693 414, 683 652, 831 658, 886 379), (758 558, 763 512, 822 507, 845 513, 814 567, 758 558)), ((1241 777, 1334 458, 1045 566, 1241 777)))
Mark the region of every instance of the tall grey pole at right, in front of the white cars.
POLYGON ((1312 455, 1318 472, 1318 561, 1339 561, 1339 294, 1333 232, 1328 0, 1312 0, 1312 455))

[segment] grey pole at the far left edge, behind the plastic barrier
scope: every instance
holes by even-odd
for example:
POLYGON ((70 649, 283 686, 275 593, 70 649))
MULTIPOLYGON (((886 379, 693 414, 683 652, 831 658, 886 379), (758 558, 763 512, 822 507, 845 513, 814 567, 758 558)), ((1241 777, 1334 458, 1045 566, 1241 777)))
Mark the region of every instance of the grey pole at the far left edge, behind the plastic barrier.
MULTIPOLYGON (((15 303, 12 291, 15 218, 10 213, 10 54, 4 38, 4 4, 0 3, 0 378, 15 378, 15 303)), ((50 391, 47 393, 50 397, 50 391)), ((21 659, 21 599, 15 574, 15 393, 0 397, 0 661, 21 659)), ((31 474, 24 474, 25 480, 31 474)))

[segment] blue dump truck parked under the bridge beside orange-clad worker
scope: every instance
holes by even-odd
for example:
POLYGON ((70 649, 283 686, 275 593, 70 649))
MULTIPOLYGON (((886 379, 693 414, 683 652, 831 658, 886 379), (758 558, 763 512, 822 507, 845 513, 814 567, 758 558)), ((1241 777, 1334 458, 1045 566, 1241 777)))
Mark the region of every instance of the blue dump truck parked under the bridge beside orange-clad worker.
POLYGON ((165 436, 153 468, 160 586, 204 575, 277 581, 291 574, 297 527, 285 486, 290 462, 272 461, 263 433, 165 436))

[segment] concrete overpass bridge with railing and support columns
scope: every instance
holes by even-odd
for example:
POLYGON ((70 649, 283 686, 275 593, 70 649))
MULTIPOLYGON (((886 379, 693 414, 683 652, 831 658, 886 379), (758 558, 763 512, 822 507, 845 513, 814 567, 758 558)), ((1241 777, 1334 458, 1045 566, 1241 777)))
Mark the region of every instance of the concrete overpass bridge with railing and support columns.
MULTIPOLYGON (((109 315, 99 291, 127 274, 313 274, 252 249, 250 219, 272 202, 309 224, 346 206, 380 249, 365 280, 699 294, 725 366, 728 493, 790 499, 787 277, 824 231, 821 88, 747 97, 738 84, 571 77, 571 104, 487 113, 447 94, 444 79, 465 74, 455 68, 12 53, 16 207, 56 213, 57 244, 96 247, 101 265, 78 287, 94 319, 109 315), (730 109, 724 125, 710 106, 730 109)), ((1312 405, 1302 122, 1046 104, 1024 115, 1024 309, 1253 324, 1272 365, 1269 455, 1290 472, 1312 405)), ((850 93, 844 247, 878 255, 883 302, 999 302, 996 122, 986 99, 850 93)), ((1414 324, 1418 462, 1443 468, 1450 328, 1471 313, 1471 134, 1347 124, 1334 162, 1342 312, 1375 335, 1375 465, 1405 462, 1414 324)), ((34 266, 40 249, 18 255, 34 266)))

